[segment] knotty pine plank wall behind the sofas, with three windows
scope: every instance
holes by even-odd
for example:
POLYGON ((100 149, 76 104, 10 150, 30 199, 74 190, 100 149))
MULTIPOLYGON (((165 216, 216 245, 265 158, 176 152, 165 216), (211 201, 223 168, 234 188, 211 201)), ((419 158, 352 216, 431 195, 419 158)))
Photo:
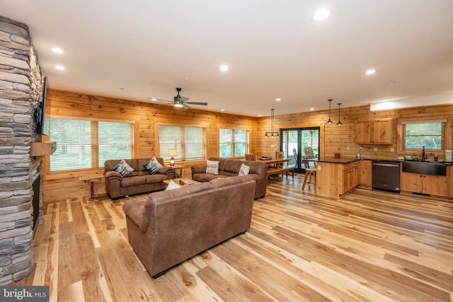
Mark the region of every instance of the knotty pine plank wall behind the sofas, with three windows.
MULTIPOLYGON (((135 158, 159 157, 159 124, 201 125, 207 128, 207 158, 219 155, 219 129, 247 129, 251 134, 251 151, 257 148, 257 118, 228 115, 202 110, 175 109, 169 105, 154 105, 131 100, 104 98, 65 91, 52 91, 51 117, 134 122, 135 158)), ((201 162, 183 163, 183 175, 190 178, 190 167, 201 162)), ((45 167, 46 168, 46 167, 45 167)), ((80 176, 103 173, 103 167, 71 172, 45 173, 43 199, 53 202, 76 195, 89 195, 88 184, 80 176)), ((96 182, 96 194, 105 193, 104 182, 96 182)))

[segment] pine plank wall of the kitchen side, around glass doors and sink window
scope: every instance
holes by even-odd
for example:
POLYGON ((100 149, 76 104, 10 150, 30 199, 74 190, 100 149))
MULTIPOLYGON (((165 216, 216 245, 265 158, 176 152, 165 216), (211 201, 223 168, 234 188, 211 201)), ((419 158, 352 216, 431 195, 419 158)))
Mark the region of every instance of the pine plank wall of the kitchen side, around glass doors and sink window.
MULTIPOLYGON (((285 128, 298 127, 320 127, 321 129, 321 157, 333 157, 333 153, 340 153, 341 157, 353 158, 356 156, 359 147, 362 146, 362 158, 396 159, 398 156, 413 155, 420 157, 421 153, 400 151, 398 138, 398 124, 401 120, 423 121, 447 120, 447 149, 453 149, 453 105, 436 105, 418 108, 405 108, 398 110, 369 111, 369 105, 340 109, 340 120, 343 123, 338 126, 338 109, 331 111, 333 124, 326 124, 328 110, 314 112, 300 112, 291 115, 277 115, 275 109, 274 131, 285 128), (392 144, 356 144, 355 143, 355 122, 357 120, 391 118, 393 121, 392 144), (349 150, 348 150, 349 147, 349 150), (377 151, 374 151, 374 148, 377 151), (394 151, 391 151, 393 149, 394 151)), ((280 139, 265 139, 265 132, 270 132, 270 117, 261 117, 258 120, 258 156, 273 156, 275 151, 280 150, 280 139), (275 145, 275 148, 271 146, 275 145)), ((432 161, 434 153, 428 153, 432 161)), ((445 153, 438 153, 439 161, 445 159, 445 153)))

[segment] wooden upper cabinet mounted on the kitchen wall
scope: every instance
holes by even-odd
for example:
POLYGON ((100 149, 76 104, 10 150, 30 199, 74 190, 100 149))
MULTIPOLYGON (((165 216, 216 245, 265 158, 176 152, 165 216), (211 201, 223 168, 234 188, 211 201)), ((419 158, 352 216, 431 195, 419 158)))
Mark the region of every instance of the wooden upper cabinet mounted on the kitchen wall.
POLYGON ((392 120, 375 119, 355 123, 357 144, 391 144, 392 120))

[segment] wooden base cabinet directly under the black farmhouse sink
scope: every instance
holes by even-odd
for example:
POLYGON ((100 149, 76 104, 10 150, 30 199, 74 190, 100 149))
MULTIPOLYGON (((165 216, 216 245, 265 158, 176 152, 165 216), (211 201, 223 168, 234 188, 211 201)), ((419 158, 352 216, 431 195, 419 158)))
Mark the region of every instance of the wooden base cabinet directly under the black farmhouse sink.
POLYGON ((447 176, 401 173, 402 191, 448 196, 447 176))

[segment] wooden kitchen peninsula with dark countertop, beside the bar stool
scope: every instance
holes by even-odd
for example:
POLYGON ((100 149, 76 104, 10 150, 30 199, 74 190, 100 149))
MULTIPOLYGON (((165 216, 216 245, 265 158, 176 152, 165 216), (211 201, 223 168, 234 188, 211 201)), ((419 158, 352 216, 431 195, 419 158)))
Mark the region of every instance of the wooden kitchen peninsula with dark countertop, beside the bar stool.
POLYGON ((316 163, 316 194, 338 198, 360 183, 360 159, 324 158, 316 163))

